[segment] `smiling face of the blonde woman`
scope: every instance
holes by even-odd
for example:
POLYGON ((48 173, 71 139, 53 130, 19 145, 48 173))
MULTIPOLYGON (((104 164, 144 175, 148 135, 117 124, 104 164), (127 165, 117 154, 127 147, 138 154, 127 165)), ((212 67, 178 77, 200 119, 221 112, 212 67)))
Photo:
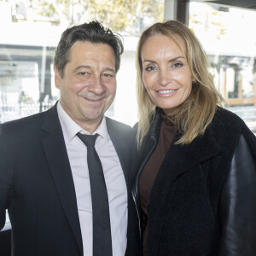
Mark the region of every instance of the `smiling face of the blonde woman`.
POLYGON ((167 115, 176 113, 192 88, 192 74, 182 50, 171 38, 157 34, 143 44, 141 58, 148 96, 167 115))

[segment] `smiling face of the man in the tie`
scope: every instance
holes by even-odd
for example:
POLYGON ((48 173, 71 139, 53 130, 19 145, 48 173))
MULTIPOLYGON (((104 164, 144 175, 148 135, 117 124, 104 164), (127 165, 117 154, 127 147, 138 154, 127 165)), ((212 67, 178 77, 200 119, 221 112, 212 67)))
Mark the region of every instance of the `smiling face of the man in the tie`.
POLYGON ((55 68, 61 106, 84 130, 92 133, 113 102, 115 57, 108 44, 76 42, 70 49, 64 76, 55 68))

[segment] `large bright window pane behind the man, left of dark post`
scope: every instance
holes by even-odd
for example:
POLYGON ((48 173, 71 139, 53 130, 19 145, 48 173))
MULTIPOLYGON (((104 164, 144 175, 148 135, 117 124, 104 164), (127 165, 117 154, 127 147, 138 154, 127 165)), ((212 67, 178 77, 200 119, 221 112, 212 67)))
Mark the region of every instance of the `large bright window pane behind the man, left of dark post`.
POLYGON ((53 58, 61 32, 67 26, 99 20, 103 26, 119 32, 125 44, 117 96, 107 115, 133 125, 137 121, 137 38, 143 29, 163 20, 164 3, 0 0, 0 122, 45 110, 58 100, 53 58))

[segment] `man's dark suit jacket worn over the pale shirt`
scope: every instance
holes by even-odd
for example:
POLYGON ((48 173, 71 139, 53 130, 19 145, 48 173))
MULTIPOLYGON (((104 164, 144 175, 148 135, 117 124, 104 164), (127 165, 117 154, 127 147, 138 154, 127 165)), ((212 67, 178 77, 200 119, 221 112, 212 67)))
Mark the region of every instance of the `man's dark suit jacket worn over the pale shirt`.
MULTIPOLYGON (((107 118, 125 179, 131 128, 107 118)), ((79 213, 56 105, 0 125, 0 230, 9 211, 13 255, 83 255, 79 213)))

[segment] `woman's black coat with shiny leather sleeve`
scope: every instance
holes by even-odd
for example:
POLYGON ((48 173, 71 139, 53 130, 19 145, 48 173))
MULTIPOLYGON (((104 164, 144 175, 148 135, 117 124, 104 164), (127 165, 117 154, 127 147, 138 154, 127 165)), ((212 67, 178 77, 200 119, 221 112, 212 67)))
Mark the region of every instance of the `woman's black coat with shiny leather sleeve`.
MULTIPOLYGON (((128 246, 141 255, 145 218, 137 180, 157 144, 160 113, 138 153, 130 183, 128 246)), ((148 256, 256 255, 256 137, 234 113, 218 108, 212 124, 163 160, 148 200, 148 256)), ((136 146, 135 146, 136 147, 136 146)))

